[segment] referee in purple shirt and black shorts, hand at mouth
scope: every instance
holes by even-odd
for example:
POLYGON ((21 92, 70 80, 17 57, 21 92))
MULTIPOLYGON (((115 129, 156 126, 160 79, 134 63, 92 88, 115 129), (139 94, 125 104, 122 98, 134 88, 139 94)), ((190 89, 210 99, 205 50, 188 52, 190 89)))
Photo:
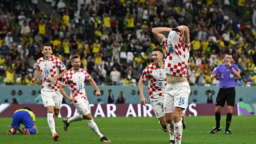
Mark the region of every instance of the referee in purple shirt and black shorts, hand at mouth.
POLYGON ((210 133, 215 133, 217 131, 221 131, 220 120, 221 120, 221 108, 224 107, 225 102, 227 100, 228 110, 227 110, 227 118, 226 118, 226 129, 225 134, 232 134, 229 129, 229 125, 231 123, 232 111, 234 107, 234 102, 236 99, 236 90, 235 90, 235 77, 240 76, 239 69, 237 65, 231 64, 233 61, 233 57, 231 53, 227 53, 225 55, 225 63, 218 65, 211 74, 211 79, 219 73, 219 92, 216 97, 216 108, 215 108, 215 120, 216 127, 210 133))

